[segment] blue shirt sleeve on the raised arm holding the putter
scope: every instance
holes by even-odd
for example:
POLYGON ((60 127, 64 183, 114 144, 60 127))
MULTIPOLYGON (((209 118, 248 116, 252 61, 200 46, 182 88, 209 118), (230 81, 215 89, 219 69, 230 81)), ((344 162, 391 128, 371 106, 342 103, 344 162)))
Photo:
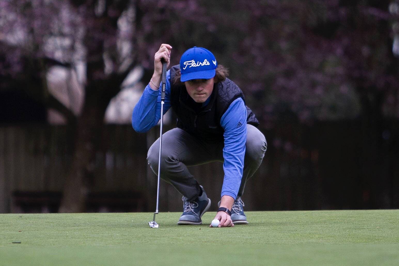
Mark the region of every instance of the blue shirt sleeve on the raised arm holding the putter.
MULTIPOLYGON (((160 86, 162 85, 162 81, 160 86)), ((170 70, 166 72, 165 86, 165 114, 170 108, 170 70)), ((158 124, 161 119, 161 90, 154 91, 150 85, 147 85, 143 94, 134 106, 132 114, 132 126, 138 133, 145 133, 153 126, 158 124)))

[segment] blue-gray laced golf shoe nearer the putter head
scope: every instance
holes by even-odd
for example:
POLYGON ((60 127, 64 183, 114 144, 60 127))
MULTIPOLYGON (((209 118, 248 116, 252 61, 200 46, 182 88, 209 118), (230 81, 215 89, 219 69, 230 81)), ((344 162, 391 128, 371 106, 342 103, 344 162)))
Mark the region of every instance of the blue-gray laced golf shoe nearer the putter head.
POLYGON ((182 197, 183 200, 183 214, 180 216, 178 225, 201 225, 202 215, 211 206, 211 200, 206 196, 205 190, 202 186, 201 197, 197 197, 194 201, 187 201, 186 197, 182 197))

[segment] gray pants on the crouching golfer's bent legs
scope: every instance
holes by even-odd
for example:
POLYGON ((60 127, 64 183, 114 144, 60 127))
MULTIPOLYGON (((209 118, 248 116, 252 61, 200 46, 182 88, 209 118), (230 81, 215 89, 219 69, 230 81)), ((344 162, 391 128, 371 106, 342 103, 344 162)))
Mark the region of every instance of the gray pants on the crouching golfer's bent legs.
MULTIPOLYGON (((162 135, 161 178, 173 185, 184 197, 192 201, 198 197, 200 188, 187 166, 197 166, 209 162, 223 162, 224 142, 207 142, 174 128, 162 135)), ((265 136, 255 126, 247 124, 247 142, 243 177, 237 197, 243 195, 245 182, 260 166, 265 155, 265 136)), ((148 164, 158 174, 159 138, 148 150, 148 164)))

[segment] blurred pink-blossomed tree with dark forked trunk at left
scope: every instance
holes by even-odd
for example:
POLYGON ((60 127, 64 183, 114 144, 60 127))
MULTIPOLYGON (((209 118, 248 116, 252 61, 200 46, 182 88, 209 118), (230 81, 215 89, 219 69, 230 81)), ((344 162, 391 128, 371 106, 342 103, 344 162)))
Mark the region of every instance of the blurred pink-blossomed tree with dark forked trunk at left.
MULTIPOLYGON (((203 10, 202 10, 203 12, 203 10)), ((63 114, 73 139, 61 212, 85 210, 93 183, 105 110, 136 65, 151 72, 161 43, 172 43, 175 24, 201 19, 196 1, 19 0, 0 2, 1 87, 18 88, 63 114), (180 12, 184 11, 184 16, 180 12), (54 97, 46 74, 61 66, 81 77, 84 100, 76 113, 54 97)), ((179 46, 174 51, 178 53, 179 46)), ((182 52, 182 51, 180 51, 182 52)))

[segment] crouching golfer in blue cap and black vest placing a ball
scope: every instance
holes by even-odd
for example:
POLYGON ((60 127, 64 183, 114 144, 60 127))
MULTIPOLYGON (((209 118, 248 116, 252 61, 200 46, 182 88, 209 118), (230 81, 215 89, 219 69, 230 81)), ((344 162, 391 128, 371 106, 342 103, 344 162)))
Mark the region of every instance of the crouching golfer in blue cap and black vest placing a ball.
MULTIPOLYGON (((147 132, 160 120, 161 60, 169 66, 171 50, 172 46, 162 44, 155 53, 154 75, 133 110, 132 126, 137 132, 147 132)), ((267 143, 256 128, 259 122, 255 114, 245 106, 241 89, 227 75, 227 69, 201 47, 188 49, 180 65, 166 73, 164 113, 172 107, 178 119, 176 128, 163 134, 161 178, 183 195, 178 225, 200 225, 211 205, 187 166, 215 161, 223 162, 224 170, 215 219, 221 227, 248 224, 241 196, 245 182, 262 162, 267 143)), ((158 156, 159 138, 147 158, 155 174, 158 156)))

